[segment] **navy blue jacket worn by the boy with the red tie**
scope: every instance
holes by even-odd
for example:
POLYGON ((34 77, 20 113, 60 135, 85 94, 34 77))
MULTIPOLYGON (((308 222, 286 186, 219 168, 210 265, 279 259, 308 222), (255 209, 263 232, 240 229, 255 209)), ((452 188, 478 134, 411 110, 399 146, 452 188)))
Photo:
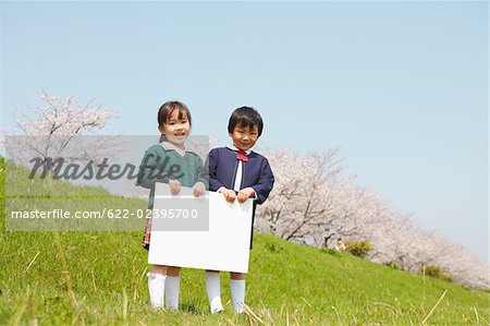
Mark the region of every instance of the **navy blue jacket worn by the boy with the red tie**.
MULTIPOLYGON (((274 176, 269 161, 260 154, 252 152, 247 158, 248 160, 243 162, 241 189, 253 188, 256 195, 254 204, 260 205, 266 202, 274 185, 274 176)), ((238 168, 235 150, 228 147, 211 149, 206 167, 209 169, 210 191, 218 191, 221 186, 233 189, 238 168)))

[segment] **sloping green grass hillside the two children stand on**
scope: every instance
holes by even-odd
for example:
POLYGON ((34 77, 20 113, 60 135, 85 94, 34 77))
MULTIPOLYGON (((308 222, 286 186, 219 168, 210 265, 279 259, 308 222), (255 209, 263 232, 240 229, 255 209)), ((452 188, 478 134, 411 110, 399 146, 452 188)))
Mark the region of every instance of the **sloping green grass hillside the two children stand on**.
MULTIPOLYGON (((1 160, 2 220, 4 170, 1 160)), ((72 193, 107 195, 99 189, 82 190, 60 181, 34 180, 30 186, 42 193, 47 184, 72 193)), ((209 314, 204 271, 194 269, 182 270, 181 311, 152 312, 140 236, 7 231, 2 221, 0 325, 260 324, 255 317, 233 314, 224 273, 223 314, 209 314)), ((488 292, 256 234, 246 301, 266 325, 419 325, 444 292, 427 324, 489 325, 488 292)))

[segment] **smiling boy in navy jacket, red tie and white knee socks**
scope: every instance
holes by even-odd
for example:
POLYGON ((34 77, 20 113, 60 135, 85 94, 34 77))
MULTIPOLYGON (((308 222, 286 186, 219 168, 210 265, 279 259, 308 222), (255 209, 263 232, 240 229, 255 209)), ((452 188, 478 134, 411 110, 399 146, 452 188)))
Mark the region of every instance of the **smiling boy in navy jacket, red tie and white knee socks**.
MULTIPOLYGON (((220 192, 233 203, 244 203, 254 198, 250 249, 256 205, 262 204, 274 184, 274 176, 267 158, 252 150, 262 134, 264 122, 260 114, 250 107, 241 107, 233 111, 228 124, 232 144, 213 148, 208 155, 209 190, 220 192)), ((245 274, 230 273, 230 290, 233 309, 243 313, 245 300, 245 274)), ((220 274, 206 270, 206 291, 211 313, 223 311, 220 293, 220 274)))

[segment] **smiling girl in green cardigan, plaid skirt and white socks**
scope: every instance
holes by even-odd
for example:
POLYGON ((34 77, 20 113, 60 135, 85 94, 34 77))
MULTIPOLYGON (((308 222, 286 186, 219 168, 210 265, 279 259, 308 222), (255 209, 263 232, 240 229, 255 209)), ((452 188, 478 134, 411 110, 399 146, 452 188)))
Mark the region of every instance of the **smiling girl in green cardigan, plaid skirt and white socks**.
MULTIPOLYGON (((191 125, 191 111, 180 101, 168 101, 158 111, 160 143, 145 152, 138 173, 138 184, 150 190, 148 209, 154 208, 155 182, 168 183, 172 195, 179 194, 181 185, 192 186, 196 197, 205 193, 208 182, 203 160, 197 154, 186 152, 184 146, 191 125), (171 169, 174 166, 180 167, 177 176, 171 169)), ((150 236, 151 219, 148 219, 143 237, 146 250, 150 245, 150 236)), ((151 266, 148 289, 154 309, 163 309, 163 292, 167 307, 179 309, 180 269, 179 266, 151 266)))

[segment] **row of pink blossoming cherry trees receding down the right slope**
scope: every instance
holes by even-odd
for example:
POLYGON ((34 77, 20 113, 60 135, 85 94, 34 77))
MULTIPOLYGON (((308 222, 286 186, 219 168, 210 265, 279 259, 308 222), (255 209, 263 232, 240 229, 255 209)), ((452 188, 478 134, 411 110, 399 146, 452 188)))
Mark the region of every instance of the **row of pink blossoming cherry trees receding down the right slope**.
POLYGON ((372 262, 412 273, 437 265, 462 285, 490 287, 487 264, 357 186, 356 178, 345 174, 339 149, 303 155, 283 149, 267 157, 275 185, 258 208, 258 231, 317 247, 332 246, 338 238, 367 240, 372 246, 367 258, 372 262))

